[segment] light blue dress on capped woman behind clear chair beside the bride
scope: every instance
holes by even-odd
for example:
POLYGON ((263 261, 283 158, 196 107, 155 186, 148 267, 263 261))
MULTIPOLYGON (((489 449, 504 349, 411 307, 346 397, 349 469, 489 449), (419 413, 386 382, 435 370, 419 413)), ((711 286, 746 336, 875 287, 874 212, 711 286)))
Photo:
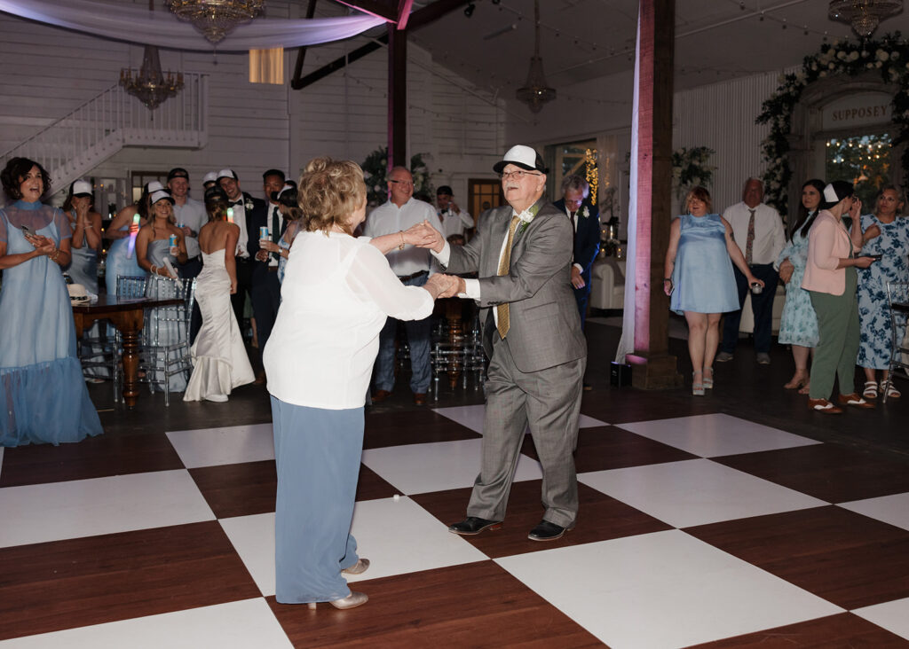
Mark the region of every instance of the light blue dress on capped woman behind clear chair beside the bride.
MULTIPOLYGON (((153 266, 164 267, 165 258, 171 261, 171 265, 176 269, 176 258, 169 253, 170 241, 159 239, 158 241, 149 241, 148 249, 145 256, 153 266)), ((185 280, 192 281, 192 280, 185 280)), ((149 298, 173 298, 176 296, 176 285, 172 280, 167 280, 161 275, 150 275, 148 283, 145 284, 145 296, 149 298)), ((156 309, 145 310, 145 327, 142 329, 143 345, 169 346, 187 339, 188 332, 183 322, 175 321, 178 319, 180 311, 176 307, 157 307, 156 309)), ((163 367, 164 352, 157 352, 159 359, 156 365, 163 367)), ((179 350, 168 352, 171 359, 178 358, 183 352, 179 350)), ((149 372, 150 385, 153 390, 163 392, 165 389, 164 374, 155 370, 149 372)), ((170 377, 168 388, 171 392, 183 392, 186 389, 186 380, 188 372, 181 370, 170 377)))

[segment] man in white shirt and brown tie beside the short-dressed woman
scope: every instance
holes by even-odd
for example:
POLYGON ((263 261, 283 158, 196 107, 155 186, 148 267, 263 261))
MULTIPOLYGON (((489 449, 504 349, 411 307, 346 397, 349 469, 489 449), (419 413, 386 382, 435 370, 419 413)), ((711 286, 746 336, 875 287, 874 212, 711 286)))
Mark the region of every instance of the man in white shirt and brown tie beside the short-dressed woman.
MULTIPOLYGON (((742 202, 726 208, 723 218, 733 228, 733 238, 745 256, 745 261, 752 274, 764 281, 764 290, 752 293, 751 310, 754 313, 754 351, 756 360, 761 365, 770 365, 771 328, 774 318, 774 295, 779 273, 774 270, 776 257, 783 251, 786 234, 780 213, 770 205, 765 205, 764 183, 757 178, 749 178, 744 183, 742 202), (754 214, 754 233, 749 244, 749 230, 754 214)), ((724 362, 733 358, 735 343, 738 341, 739 321, 742 320, 742 306, 748 294, 748 280, 741 270, 733 268, 735 284, 739 291, 739 310, 724 315, 723 344, 716 360, 724 362)), ((709 278, 705 278, 709 280, 709 278)))

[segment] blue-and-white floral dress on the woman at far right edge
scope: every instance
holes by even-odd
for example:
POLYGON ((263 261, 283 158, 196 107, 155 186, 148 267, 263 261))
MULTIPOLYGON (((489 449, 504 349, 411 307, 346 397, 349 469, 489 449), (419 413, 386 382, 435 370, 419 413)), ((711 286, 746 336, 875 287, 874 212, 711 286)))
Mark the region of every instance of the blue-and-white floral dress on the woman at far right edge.
MULTIPOLYGON (((887 369, 890 363, 893 340, 891 339, 890 307, 887 303, 888 281, 909 281, 909 218, 897 216, 892 223, 882 223, 873 214, 862 217, 862 231, 872 225, 881 234, 862 247, 863 255, 882 254, 866 269, 858 270, 858 320, 862 338, 856 364, 862 368, 887 369)), ((902 340, 905 320, 896 332, 902 340)))

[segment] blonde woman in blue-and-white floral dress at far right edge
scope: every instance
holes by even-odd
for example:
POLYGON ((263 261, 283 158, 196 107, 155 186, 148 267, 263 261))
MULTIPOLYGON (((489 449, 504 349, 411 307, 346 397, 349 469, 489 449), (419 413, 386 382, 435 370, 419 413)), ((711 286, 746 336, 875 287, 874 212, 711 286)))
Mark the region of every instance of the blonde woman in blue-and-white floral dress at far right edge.
MULTIPOLYGON (((864 369, 864 398, 877 398, 878 389, 887 390, 887 398, 901 393, 891 382, 887 388, 887 368, 893 349, 890 306, 887 302, 888 281, 909 281, 909 218, 897 216, 903 210, 903 198, 893 186, 884 187, 877 195, 874 214, 862 217, 863 255, 882 255, 880 261, 858 271, 858 320, 861 340, 858 348, 859 367, 864 369), (875 376, 881 371, 880 383, 875 376)), ((902 340, 905 321, 896 332, 902 340)))

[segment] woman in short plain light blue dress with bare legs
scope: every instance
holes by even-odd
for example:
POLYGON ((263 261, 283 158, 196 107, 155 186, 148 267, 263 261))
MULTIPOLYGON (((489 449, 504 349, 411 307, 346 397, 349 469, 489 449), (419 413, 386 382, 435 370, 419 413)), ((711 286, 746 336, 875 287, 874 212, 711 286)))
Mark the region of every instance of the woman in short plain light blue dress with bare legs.
POLYGON ((738 310, 732 262, 750 286, 764 287, 752 275, 735 245, 732 228, 713 209, 710 192, 694 187, 685 197, 688 211, 673 221, 664 263, 663 290, 670 308, 688 322, 688 354, 694 369, 692 394, 714 387, 714 355, 720 340, 720 317, 738 310), (730 261, 732 258, 732 261, 730 261))

